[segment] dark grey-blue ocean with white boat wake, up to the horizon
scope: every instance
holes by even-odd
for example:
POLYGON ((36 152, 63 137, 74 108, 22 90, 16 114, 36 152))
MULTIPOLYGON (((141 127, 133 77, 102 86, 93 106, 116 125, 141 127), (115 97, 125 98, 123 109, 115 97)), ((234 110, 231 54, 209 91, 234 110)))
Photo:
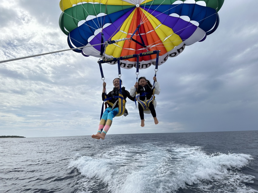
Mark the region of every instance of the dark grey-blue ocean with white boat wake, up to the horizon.
POLYGON ((258 131, 1 138, 0 192, 258 193, 258 131))

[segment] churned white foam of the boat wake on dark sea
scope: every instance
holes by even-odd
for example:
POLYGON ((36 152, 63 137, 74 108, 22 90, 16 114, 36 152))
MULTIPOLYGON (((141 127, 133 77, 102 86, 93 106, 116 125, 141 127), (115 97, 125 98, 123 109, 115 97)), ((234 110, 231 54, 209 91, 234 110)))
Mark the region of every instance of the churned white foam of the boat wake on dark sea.
MULTIPOLYGON (((141 144, 113 147, 95 157, 77 155, 69 167, 85 179, 100 179, 112 193, 164 193, 193 184, 208 192, 257 192, 241 183, 252 183, 254 177, 237 170, 251 159, 245 154, 206 155, 200 147, 173 143, 141 144)), ((87 181, 84 186, 97 185, 87 181)))

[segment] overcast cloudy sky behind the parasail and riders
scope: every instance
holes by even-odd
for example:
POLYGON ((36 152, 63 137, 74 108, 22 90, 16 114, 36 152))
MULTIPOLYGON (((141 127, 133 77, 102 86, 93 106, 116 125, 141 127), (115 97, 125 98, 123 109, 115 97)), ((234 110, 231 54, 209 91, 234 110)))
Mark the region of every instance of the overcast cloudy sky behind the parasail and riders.
MULTIPOLYGON (((154 124, 127 100, 108 134, 244 131, 258 128, 258 1, 226 0, 204 42, 159 66, 154 124)), ((0 0, 0 61, 69 49, 59 0, 0 0)), ((98 58, 73 51, 0 63, 0 135, 50 137, 97 132, 102 105, 98 58)), ((103 65, 107 92, 117 65, 103 65)), ((130 91, 136 69, 121 69, 130 91)), ((139 76, 152 80, 154 66, 139 76)))

